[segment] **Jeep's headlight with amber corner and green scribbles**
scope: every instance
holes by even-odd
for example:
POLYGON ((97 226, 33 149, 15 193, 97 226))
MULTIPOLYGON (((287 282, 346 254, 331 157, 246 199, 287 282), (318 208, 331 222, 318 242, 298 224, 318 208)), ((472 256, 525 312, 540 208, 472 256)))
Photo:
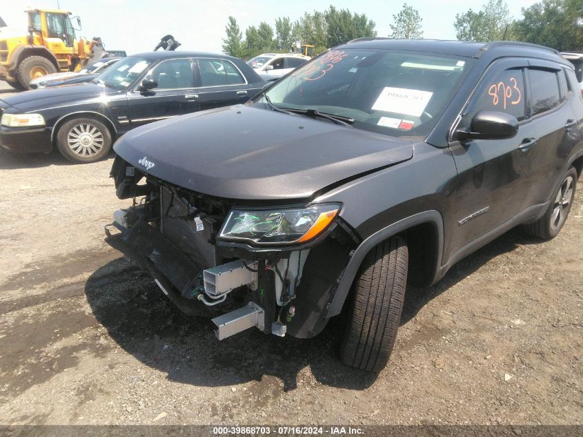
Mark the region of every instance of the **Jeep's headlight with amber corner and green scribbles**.
POLYGON ((339 204, 268 210, 233 209, 219 238, 256 244, 308 242, 326 231, 339 211, 339 204))

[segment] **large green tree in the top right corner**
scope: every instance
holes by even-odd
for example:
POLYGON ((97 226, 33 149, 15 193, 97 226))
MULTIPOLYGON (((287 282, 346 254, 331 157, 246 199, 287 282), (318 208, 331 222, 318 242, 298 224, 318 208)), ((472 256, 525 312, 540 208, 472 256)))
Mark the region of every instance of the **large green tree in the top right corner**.
POLYGON ((515 38, 559 51, 583 50, 583 0, 543 0, 522 8, 515 38))

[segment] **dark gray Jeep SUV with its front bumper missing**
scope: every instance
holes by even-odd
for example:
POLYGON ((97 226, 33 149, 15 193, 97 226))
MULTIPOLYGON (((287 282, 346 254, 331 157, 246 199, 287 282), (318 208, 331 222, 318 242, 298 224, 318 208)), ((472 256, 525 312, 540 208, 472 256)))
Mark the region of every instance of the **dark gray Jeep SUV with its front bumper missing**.
POLYGON ((573 66, 524 43, 359 39, 246 104, 115 145, 107 242, 219 340, 309 338, 379 371, 406 284, 431 286, 514 226, 548 240, 583 171, 573 66))

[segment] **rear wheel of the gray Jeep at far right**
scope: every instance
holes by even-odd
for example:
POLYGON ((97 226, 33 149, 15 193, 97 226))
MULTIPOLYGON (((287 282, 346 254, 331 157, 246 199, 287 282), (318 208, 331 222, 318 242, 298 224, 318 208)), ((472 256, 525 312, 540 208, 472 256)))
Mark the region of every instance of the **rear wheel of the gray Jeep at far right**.
POLYGON ((552 240, 556 237, 571 211, 575 188, 577 188, 577 171, 575 167, 571 167, 564 175, 557 193, 553 195, 549 209, 537 222, 524 225, 524 231, 542 240, 552 240))

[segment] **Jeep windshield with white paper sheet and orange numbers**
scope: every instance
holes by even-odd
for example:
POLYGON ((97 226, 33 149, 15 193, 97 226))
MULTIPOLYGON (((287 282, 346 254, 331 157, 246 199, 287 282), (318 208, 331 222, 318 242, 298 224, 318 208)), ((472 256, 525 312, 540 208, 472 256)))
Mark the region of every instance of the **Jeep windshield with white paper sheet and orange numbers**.
POLYGON ((266 95, 277 108, 354 119, 355 128, 397 137, 427 135, 472 62, 419 52, 331 50, 281 79, 266 95))

